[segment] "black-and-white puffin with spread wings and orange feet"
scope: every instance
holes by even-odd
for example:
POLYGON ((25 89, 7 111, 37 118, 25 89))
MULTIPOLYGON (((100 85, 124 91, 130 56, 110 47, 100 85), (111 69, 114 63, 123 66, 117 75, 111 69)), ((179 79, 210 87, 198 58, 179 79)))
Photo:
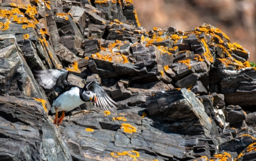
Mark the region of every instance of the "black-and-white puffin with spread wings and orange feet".
POLYGON ((97 81, 89 82, 81 88, 68 81, 69 70, 48 69, 37 70, 35 73, 36 80, 41 87, 49 90, 62 89, 50 108, 51 113, 55 113, 54 124, 60 125, 65 117, 65 111, 71 111, 84 102, 92 102, 96 107, 106 111, 115 111, 118 107, 117 102, 106 93, 97 81), (60 111, 62 111, 62 116, 58 119, 60 111))

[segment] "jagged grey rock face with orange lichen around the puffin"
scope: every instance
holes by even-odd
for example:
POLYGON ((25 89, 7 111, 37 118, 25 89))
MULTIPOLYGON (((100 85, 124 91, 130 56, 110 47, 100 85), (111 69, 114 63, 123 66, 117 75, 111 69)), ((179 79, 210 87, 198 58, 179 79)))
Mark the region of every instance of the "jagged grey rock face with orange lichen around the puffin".
POLYGON ((140 27, 131 1, 0 4, 0 160, 252 160, 255 69, 220 29, 140 27), (101 83, 56 127, 34 72, 101 83), (87 110, 85 110, 87 109, 87 110), (88 111, 89 110, 89 111, 88 111))

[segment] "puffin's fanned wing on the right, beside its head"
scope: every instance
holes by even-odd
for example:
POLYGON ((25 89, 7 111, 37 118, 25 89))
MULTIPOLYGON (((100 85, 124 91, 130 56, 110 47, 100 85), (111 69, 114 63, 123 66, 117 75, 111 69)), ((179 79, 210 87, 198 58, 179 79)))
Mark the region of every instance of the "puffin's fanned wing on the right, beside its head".
POLYGON ((90 82, 86 88, 93 91, 97 96, 96 106, 103 110, 115 111, 118 107, 117 102, 106 93, 106 91, 100 86, 100 83, 96 81, 90 82))

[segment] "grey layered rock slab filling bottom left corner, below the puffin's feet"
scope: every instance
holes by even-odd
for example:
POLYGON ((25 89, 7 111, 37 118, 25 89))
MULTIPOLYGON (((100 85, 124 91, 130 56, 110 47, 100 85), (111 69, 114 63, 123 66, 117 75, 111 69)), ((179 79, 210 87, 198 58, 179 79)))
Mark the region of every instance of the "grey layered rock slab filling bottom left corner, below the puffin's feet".
POLYGON ((40 102, 0 96, 1 159, 72 160, 40 102))

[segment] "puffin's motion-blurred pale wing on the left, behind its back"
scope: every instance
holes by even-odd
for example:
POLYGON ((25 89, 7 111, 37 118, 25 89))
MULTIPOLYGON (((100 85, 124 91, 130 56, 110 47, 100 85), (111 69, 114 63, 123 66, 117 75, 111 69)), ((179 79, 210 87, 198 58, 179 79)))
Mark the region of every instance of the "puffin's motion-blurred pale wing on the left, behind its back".
POLYGON ((68 70, 37 70, 36 80, 45 89, 52 89, 54 86, 63 86, 63 82, 68 78, 68 70))

